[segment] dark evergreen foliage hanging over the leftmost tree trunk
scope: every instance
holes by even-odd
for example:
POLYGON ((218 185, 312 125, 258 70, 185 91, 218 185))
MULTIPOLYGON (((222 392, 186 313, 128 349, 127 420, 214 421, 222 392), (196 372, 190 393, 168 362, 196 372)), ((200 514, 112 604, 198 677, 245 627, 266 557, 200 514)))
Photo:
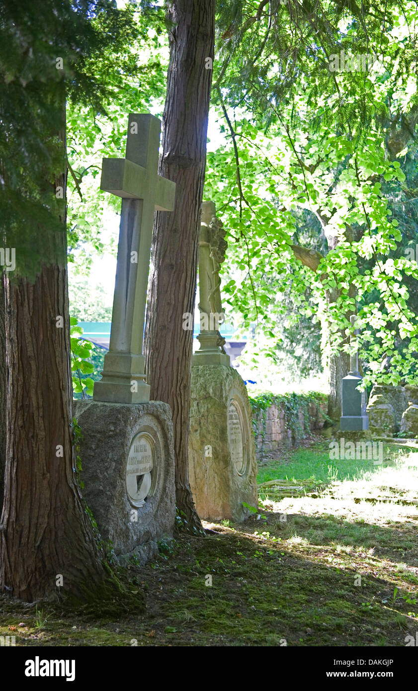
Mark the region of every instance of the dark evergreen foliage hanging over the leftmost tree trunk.
POLYGON ((66 98, 97 110, 108 93, 97 65, 110 66, 134 35, 132 10, 111 0, 1 5, 0 215, 16 275, 62 261, 66 98), (46 229, 56 243, 44 242, 46 229))

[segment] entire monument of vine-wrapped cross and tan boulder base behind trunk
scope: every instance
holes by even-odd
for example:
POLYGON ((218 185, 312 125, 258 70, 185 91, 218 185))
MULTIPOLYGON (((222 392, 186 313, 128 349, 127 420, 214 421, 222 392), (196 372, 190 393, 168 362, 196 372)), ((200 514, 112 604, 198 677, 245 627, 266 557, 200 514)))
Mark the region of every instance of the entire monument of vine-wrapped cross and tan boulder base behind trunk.
POLYGON ((193 355, 189 477, 196 511, 205 520, 249 515, 257 507, 257 464, 247 389, 223 352, 219 324, 220 264, 227 244, 213 202, 203 202, 200 226, 200 350, 193 355))

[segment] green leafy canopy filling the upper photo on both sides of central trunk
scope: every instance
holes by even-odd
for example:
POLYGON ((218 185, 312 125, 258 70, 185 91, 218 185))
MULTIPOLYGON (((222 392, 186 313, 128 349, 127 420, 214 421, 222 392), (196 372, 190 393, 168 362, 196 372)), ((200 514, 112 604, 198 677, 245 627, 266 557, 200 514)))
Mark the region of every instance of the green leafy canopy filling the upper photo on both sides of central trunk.
MULTIPOLYGON (((321 367, 318 319, 328 355, 347 349, 357 310, 374 379, 415 376, 416 21, 412 2, 218 3, 212 109, 225 145, 208 155, 205 198, 229 234, 224 294, 272 357, 304 334, 297 368, 321 367), (377 373, 383 354, 390 375, 377 373)), ((57 223, 65 88, 68 257, 89 247, 85 270, 103 248, 102 211, 117 204, 98 190, 101 158, 123 149, 126 113, 162 111, 164 12, 18 1, 1 8, 0 37, 8 245, 29 217, 57 223)), ((52 249, 41 234, 27 246, 21 271, 52 249)))

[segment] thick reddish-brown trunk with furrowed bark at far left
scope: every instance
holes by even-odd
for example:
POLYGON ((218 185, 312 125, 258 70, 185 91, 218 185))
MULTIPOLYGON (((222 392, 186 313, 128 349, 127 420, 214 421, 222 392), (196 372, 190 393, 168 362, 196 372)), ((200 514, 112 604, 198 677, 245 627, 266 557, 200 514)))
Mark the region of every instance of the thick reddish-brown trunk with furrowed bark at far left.
MULTIPOLYGON (((51 207, 57 185, 65 189, 64 175, 50 184, 51 207)), ((17 257, 35 248, 35 263, 30 276, 21 265, 6 276, 0 591, 30 602, 90 596, 105 576, 75 475, 64 200, 57 216, 57 228, 34 219, 15 235, 17 257)))

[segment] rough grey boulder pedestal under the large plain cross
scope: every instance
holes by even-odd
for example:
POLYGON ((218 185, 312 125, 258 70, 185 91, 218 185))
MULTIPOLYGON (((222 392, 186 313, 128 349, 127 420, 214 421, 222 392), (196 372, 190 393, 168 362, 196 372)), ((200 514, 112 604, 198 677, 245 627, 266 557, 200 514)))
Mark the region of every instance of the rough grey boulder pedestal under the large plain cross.
POLYGON ((173 424, 161 401, 74 401, 81 428, 82 493, 121 562, 158 553, 175 522, 173 424))

